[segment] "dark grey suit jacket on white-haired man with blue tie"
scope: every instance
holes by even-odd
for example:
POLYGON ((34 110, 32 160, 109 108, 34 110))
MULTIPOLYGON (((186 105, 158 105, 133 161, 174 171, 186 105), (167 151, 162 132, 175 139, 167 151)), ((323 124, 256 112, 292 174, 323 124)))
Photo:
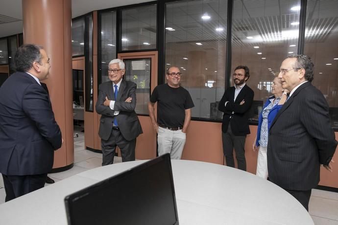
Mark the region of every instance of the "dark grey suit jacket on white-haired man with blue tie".
POLYGON ((113 129, 114 111, 120 111, 120 113, 116 115, 116 118, 124 139, 130 141, 142 134, 141 124, 135 112, 135 106, 136 84, 134 82, 122 80, 117 99, 114 97, 113 82, 108 81, 102 83, 98 88, 96 104, 96 111, 98 114, 101 114, 98 135, 103 140, 108 140, 113 129), (103 105, 106 96, 110 100, 115 100, 114 110, 111 110, 109 106, 103 105), (132 97, 131 102, 125 102, 125 99, 128 97, 132 97))

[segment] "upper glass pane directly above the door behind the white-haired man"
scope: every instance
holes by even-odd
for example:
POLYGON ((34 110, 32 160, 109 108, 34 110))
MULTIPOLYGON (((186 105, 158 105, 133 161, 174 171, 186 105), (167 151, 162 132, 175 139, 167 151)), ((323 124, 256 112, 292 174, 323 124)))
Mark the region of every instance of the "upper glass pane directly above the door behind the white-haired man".
POLYGON ((122 51, 156 48, 156 6, 122 10, 122 51))

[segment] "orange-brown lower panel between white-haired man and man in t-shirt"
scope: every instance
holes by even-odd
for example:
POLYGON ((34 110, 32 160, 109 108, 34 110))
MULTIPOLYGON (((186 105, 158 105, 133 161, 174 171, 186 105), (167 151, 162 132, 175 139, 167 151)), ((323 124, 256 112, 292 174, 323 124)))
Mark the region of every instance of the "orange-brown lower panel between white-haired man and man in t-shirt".
POLYGON ((156 132, 152 127, 149 116, 139 116, 143 134, 136 140, 135 157, 137 159, 151 159, 156 157, 156 132))

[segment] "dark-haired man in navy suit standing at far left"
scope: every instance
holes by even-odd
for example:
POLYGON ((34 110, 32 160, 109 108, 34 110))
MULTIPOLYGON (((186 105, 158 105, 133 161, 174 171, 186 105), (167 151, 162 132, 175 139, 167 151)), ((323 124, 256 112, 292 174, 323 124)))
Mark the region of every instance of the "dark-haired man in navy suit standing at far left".
POLYGON ((39 45, 15 53, 17 72, 0 88, 0 173, 10 201, 44 187, 62 137, 47 91, 49 58, 39 45))

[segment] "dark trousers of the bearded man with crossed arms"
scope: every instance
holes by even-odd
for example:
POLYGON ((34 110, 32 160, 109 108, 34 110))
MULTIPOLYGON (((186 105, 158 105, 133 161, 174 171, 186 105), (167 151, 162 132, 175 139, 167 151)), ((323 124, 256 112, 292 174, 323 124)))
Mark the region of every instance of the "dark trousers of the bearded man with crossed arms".
POLYGON ((222 132, 223 153, 227 166, 235 167, 233 151, 235 148, 238 169, 246 171, 245 161, 245 136, 236 136, 231 131, 231 126, 226 133, 222 132))

